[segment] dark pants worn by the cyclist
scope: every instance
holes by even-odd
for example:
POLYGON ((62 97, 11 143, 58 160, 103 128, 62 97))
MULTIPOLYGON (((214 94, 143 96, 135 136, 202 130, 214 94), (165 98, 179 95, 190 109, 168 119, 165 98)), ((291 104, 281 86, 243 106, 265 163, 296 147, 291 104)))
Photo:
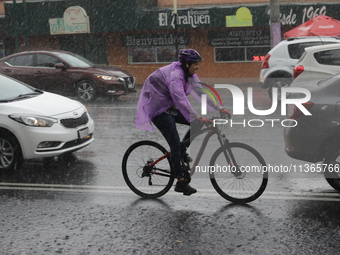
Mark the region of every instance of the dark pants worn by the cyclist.
POLYGON ((177 131, 176 123, 190 125, 190 129, 183 137, 183 141, 190 138, 190 133, 195 134, 198 132, 203 123, 199 120, 194 120, 189 123, 181 114, 180 111, 176 111, 173 114, 169 114, 167 112, 163 112, 162 114, 154 117, 152 122, 159 129, 159 131, 164 136, 165 140, 168 142, 170 146, 170 160, 172 164, 172 168, 174 170, 175 176, 177 178, 183 177, 183 171, 180 164, 181 158, 181 141, 177 131))

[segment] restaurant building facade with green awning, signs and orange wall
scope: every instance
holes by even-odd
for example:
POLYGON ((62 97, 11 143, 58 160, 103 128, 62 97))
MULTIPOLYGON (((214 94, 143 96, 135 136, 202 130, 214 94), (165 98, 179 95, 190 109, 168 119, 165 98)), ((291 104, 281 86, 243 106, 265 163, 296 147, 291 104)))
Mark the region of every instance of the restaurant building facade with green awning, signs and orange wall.
MULTIPOLYGON (((5 52, 68 50, 120 66, 142 84, 176 60, 179 49, 194 48, 204 58, 199 71, 204 82, 258 80, 261 60, 271 48, 267 1, 177 2, 177 23, 172 0, 5 2, 5 52)), ((320 14, 340 20, 339 10, 337 2, 280 1, 280 33, 320 14)))

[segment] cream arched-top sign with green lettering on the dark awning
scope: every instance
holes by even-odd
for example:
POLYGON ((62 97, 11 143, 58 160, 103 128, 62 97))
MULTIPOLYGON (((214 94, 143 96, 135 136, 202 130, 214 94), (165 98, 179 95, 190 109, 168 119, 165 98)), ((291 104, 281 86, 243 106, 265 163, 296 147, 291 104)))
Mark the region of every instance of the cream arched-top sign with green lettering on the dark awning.
POLYGON ((63 18, 49 19, 50 34, 90 33, 90 21, 86 11, 79 6, 66 9, 63 18))

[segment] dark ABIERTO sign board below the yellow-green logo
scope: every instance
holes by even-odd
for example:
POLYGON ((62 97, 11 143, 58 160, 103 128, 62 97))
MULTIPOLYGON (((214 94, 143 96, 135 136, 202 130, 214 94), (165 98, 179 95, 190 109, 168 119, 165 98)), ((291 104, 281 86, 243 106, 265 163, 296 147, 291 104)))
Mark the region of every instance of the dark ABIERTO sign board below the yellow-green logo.
POLYGON ((209 45, 212 47, 270 45, 270 30, 247 29, 223 32, 210 31, 209 45))

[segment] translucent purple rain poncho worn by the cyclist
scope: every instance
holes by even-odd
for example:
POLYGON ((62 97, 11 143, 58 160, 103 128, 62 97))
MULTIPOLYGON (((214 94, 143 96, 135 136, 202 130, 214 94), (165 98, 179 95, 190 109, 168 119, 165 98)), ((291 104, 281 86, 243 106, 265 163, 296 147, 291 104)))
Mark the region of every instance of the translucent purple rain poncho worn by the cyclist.
MULTIPOLYGON (((203 90, 195 74, 185 81, 185 73, 180 62, 173 62, 153 72, 144 82, 138 104, 135 125, 142 130, 154 130, 151 120, 175 106, 190 123, 198 114, 191 106, 187 95, 201 100, 203 90)), ((218 107, 207 98, 208 110, 212 112, 218 107)))

